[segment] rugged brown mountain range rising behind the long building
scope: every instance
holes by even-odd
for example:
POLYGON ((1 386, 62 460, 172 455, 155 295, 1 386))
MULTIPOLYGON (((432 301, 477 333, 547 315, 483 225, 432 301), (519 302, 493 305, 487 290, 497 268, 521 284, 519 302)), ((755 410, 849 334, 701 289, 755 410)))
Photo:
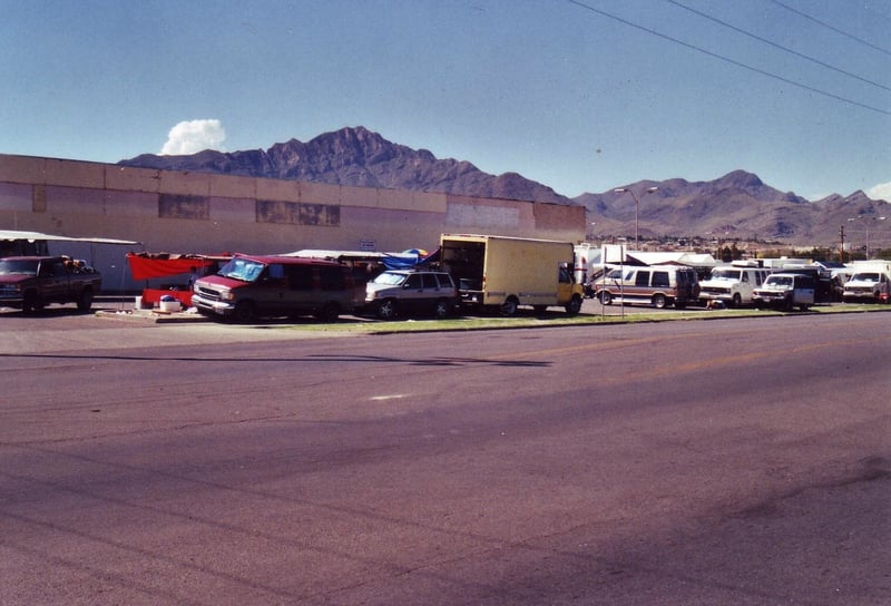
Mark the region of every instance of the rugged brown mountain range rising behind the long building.
POLYGON ((306 143, 291 139, 265 150, 206 149, 185 156, 143 154, 118 164, 574 204, 586 207, 588 233, 597 240, 634 235, 634 195, 615 189, 630 189, 637 196, 642 238, 698 236, 834 246, 840 227, 850 225, 849 219, 890 214, 888 202, 870 199, 860 190, 809 202, 792 192, 774 189, 745 170, 708 182, 674 178, 619 184, 607 192, 569 198, 517 173, 491 175, 466 160, 439 159, 427 149, 391 143, 361 126, 326 133, 306 143), (647 192, 653 187, 657 189, 647 192))

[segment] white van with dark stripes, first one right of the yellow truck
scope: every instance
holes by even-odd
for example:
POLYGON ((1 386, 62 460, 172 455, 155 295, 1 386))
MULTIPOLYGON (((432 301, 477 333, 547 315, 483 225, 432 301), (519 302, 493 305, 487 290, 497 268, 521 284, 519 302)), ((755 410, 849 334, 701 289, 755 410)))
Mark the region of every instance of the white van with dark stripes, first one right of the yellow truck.
POLYGON ((594 296, 604 305, 645 303, 656 309, 674 305, 683 310, 699 299, 699 281, 692 267, 626 267, 607 273, 594 284, 594 296))

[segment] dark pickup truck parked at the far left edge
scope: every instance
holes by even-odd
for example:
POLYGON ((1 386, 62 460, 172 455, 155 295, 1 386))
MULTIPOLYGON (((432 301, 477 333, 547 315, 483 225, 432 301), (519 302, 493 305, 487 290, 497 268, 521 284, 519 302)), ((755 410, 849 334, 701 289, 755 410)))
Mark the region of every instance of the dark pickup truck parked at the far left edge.
POLYGON ((65 256, 0 258, 0 307, 39 312, 50 303, 77 303, 87 311, 102 286, 102 276, 65 256))

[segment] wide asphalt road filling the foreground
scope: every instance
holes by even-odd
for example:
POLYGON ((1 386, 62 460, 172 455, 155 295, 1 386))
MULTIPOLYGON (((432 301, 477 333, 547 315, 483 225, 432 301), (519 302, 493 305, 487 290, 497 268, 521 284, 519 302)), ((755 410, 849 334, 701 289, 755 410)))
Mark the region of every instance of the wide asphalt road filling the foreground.
POLYGON ((0 604, 889 604, 889 317, 0 317, 0 604))

